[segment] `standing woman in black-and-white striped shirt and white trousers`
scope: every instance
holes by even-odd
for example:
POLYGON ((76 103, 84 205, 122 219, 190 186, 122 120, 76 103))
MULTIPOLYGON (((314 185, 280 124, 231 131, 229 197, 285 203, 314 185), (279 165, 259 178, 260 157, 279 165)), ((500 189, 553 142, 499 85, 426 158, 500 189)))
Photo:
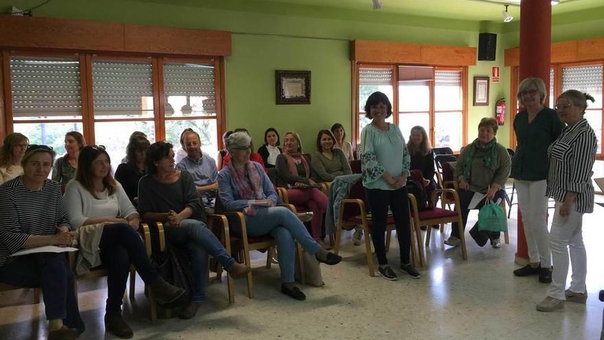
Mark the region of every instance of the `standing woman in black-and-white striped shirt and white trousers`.
POLYGON ((564 308, 564 301, 585 304, 587 254, 581 228, 583 214, 594 211, 592 167, 596 159, 596 134, 583 115, 587 93, 568 90, 559 95, 556 109, 560 120, 568 124, 560 137, 548 149, 550 168, 547 194, 556 201, 556 211, 550 231, 550 249, 553 257, 552 283, 537 310, 551 312, 564 308), (572 280, 566 291, 568 252, 572 262, 572 280))

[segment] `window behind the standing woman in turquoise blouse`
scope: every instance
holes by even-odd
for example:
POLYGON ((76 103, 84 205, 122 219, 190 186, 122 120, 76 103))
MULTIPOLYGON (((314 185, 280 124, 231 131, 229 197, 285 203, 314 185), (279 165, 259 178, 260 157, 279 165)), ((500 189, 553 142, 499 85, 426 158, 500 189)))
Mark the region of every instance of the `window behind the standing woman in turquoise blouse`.
POLYGON ((464 145, 465 68, 360 65, 358 74, 357 133, 371 122, 363 112, 367 98, 382 91, 393 104, 388 121, 399 126, 405 139, 419 125, 426 128, 432 146, 459 150, 464 145))

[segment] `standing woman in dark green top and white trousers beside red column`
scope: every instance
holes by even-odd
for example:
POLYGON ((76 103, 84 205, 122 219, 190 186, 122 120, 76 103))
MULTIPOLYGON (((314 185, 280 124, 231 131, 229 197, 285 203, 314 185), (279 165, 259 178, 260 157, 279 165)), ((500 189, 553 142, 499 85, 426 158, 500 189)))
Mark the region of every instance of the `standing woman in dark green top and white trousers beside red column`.
POLYGON ((529 264, 516 269, 514 275, 539 275, 539 282, 552 281, 551 253, 547 227, 548 146, 555 141, 564 124, 555 110, 544 106, 546 87, 540 78, 526 78, 518 86, 518 100, 524 106, 514 119, 518 146, 512 159, 511 176, 518 190, 518 207, 529 264))

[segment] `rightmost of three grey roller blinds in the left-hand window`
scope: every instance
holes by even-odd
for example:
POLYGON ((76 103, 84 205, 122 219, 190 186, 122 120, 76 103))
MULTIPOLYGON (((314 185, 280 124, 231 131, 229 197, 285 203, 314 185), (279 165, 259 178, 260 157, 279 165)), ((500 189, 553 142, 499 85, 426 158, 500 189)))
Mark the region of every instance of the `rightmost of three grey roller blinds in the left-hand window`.
MULTIPOLYGON (((174 106, 177 102, 174 97, 184 97, 185 100, 183 106, 168 107, 166 111, 180 109, 182 113, 216 115, 216 81, 213 66, 165 63, 163 82, 166 103, 174 106)), ((166 114, 169 115, 168 112, 166 114)))

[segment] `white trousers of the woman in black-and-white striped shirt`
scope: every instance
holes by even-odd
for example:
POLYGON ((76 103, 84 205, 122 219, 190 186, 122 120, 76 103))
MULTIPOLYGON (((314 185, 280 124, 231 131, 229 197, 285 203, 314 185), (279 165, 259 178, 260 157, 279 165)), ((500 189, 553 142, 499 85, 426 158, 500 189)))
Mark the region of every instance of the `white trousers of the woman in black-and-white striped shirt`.
POLYGON ((585 277, 588 270, 588 259, 583 245, 583 214, 577 212, 573 203, 570 214, 560 216, 561 202, 556 202, 556 211, 552 220, 550 231, 550 249, 552 250, 554 269, 552 283, 548 288, 548 296, 564 300, 566 277, 568 276, 568 252, 570 249, 570 264, 572 275, 570 290, 574 293, 585 293, 585 277))

